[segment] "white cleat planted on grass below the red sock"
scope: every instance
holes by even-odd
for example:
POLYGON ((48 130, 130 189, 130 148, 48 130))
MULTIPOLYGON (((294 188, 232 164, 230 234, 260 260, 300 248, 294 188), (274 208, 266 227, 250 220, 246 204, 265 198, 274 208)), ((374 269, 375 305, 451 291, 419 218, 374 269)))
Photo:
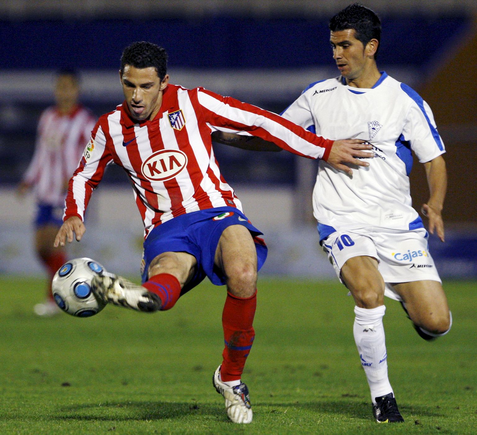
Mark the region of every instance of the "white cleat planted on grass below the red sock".
POLYGON ((220 380, 220 367, 218 366, 212 376, 212 383, 217 393, 222 394, 225 399, 228 418, 234 423, 250 423, 253 413, 247 385, 242 382, 235 387, 229 387, 220 380))

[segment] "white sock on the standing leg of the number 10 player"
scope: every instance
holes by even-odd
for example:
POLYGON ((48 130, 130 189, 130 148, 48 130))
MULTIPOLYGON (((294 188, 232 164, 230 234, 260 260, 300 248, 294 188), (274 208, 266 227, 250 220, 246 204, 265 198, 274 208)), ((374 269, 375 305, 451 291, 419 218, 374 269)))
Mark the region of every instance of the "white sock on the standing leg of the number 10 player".
POLYGON ((354 341, 360 354, 361 365, 371 390, 371 400, 393 393, 387 375, 387 353, 384 339, 383 317, 386 307, 367 309, 354 307, 354 341))

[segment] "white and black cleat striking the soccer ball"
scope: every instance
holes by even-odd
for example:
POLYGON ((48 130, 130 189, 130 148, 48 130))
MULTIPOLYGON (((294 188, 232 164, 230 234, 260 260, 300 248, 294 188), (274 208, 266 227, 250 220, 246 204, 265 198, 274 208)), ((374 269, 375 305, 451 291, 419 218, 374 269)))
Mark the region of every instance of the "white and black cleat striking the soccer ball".
POLYGON ((132 308, 138 311, 153 312, 161 309, 161 300, 143 286, 110 273, 94 276, 91 281, 94 296, 104 303, 132 308))

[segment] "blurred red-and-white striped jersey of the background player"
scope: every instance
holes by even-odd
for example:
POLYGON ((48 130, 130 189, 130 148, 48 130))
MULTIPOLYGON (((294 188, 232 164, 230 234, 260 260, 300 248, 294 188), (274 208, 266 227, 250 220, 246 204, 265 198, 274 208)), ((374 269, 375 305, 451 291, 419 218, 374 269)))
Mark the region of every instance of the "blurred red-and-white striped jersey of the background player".
POLYGON ((78 166, 84 145, 94 127, 92 113, 77 106, 63 115, 55 107, 41 114, 37 127, 35 152, 23 176, 33 186, 38 202, 64 205, 66 182, 78 166))

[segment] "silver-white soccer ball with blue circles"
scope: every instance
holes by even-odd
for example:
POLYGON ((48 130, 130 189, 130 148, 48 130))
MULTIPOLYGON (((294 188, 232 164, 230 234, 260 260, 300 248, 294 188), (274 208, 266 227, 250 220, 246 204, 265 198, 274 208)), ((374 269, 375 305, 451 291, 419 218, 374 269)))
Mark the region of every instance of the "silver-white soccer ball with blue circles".
POLYGON ((106 269, 91 258, 75 258, 60 267, 53 277, 52 293, 56 304, 72 316, 90 317, 105 306, 94 297, 91 280, 106 269))

